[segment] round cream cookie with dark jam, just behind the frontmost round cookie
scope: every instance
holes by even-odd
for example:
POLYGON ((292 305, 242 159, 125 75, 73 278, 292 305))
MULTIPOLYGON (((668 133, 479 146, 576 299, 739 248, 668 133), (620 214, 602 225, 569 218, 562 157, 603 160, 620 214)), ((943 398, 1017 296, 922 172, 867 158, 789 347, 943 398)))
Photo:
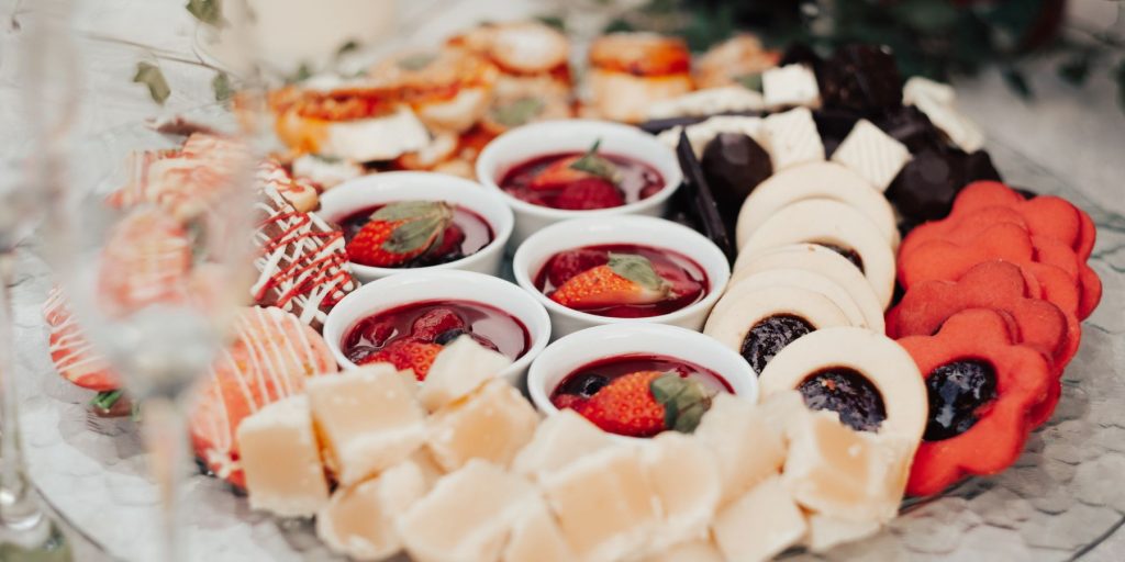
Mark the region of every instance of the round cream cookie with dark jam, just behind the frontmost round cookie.
POLYGON ((829 326, 849 325, 844 311, 827 297, 795 287, 770 285, 727 294, 716 308, 703 333, 741 354, 757 373, 798 338, 829 326))

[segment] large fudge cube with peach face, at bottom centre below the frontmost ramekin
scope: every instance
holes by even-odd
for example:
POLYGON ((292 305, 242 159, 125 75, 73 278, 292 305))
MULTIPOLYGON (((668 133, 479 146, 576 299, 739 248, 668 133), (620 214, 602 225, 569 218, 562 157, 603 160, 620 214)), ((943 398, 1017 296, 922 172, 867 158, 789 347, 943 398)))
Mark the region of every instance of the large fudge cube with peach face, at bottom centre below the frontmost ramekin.
POLYGON ((588 454, 547 474, 540 486, 578 560, 633 555, 659 523, 639 454, 628 445, 588 454))

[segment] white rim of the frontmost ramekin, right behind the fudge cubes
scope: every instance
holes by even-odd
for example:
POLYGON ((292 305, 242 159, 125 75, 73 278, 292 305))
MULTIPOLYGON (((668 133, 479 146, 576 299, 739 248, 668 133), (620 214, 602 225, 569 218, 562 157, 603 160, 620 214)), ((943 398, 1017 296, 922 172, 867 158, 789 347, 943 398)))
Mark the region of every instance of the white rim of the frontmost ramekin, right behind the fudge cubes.
POLYGON ((551 392, 566 375, 621 355, 657 355, 694 363, 722 377, 735 396, 757 404, 758 379, 739 354, 698 332, 659 324, 597 326, 548 345, 528 373, 532 404, 547 416, 557 414, 551 392))

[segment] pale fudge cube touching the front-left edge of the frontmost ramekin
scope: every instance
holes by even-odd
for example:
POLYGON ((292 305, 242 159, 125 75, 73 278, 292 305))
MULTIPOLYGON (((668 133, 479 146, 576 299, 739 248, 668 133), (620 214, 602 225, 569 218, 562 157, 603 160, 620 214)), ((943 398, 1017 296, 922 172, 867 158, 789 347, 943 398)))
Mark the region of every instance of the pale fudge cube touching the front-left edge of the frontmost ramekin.
POLYGON ((570 408, 548 417, 523 450, 512 470, 533 480, 613 444, 613 438, 570 408))

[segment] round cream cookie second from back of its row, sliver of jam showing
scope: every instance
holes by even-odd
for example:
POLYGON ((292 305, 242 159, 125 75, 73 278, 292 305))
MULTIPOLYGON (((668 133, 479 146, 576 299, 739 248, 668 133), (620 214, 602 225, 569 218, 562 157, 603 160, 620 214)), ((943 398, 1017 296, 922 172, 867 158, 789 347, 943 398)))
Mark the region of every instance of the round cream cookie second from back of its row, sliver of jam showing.
POLYGON ((830 199, 798 201, 778 210, 741 245, 754 260, 765 251, 796 243, 839 252, 867 278, 885 308, 894 291, 894 252, 879 227, 849 205, 830 199))

